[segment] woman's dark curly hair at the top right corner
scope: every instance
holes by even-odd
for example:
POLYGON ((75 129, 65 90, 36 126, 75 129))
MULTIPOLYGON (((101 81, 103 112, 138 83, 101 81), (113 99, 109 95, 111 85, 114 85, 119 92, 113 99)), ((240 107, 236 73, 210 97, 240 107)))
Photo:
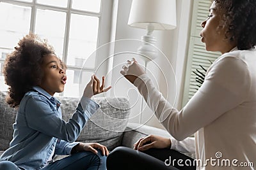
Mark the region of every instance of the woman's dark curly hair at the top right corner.
POLYGON ((223 11, 220 27, 227 28, 226 37, 237 43, 239 50, 256 45, 256 1, 214 0, 216 10, 223 11))

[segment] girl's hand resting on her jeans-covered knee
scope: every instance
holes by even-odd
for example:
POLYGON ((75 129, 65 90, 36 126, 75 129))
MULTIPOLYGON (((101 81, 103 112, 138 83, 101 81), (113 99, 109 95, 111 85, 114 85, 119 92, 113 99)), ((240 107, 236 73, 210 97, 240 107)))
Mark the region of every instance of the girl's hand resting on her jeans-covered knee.
POLYGON ((76 147, 77 152, 89 151, 97 154, 98 152, 96 149, 99 149, 103 155, 109 155, 108 148, 104 145, 100 145, 99 143, 79 143, 76 147))

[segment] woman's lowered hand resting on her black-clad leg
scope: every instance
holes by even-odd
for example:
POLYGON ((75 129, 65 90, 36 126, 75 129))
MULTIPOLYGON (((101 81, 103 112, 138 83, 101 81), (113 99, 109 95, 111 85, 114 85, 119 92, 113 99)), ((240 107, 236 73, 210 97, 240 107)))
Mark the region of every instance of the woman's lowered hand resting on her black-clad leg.
POLYGON ((161 136, 149 135, 141 138, 134 143, 134 150, 148 150, 150 148, 170 148, 172 145, 170 138, 163 138, 161 136))

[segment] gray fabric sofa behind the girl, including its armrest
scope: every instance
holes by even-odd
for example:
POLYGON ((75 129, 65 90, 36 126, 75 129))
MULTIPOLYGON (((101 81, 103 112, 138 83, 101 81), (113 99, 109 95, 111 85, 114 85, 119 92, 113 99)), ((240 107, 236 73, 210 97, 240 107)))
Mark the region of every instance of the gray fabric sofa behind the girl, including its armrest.
MULTIPOLYGON (((12 140, 12 125, 17 110, 10 108, 5 102, 5 92, 0 91, 0 155, 9 147, 12 140)), ((64 120, 68 120, 76 109, 79 99, 58 97, 64 120)), ((133 147, 138 139, 148 134, 170 137, 168 132, 147 125, 128 123, 130 104, 124 97, 104 97, 94 99, 100 109, 86 123, 77 141, 84 143, 97 142, 113 150, 116 146, 133 147)))

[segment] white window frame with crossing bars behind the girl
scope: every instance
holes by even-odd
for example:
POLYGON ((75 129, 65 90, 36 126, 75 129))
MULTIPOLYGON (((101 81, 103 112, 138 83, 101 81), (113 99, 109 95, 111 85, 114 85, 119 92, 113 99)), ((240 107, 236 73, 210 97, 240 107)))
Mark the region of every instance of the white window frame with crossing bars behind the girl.
MULTIPOLYGON (((31 7, 31 19, 30 19, 30 32, 35 33, 35 24, 36 24, 36 10, 52 10, 52 11, 61 11, 67 13, 66 15, 66 24, 65 24, 65 35, 64 35, 64 43, 63 43, 63 62, 67 63, 68 58, 68 41, 69 41, 69 33, 70 33, 70 18, 71 14, 79 14, 86 15, 89 17, 98 17, 99 18, 99 28, 98 28, 98 37, 97 37, 97 48, 99 46, 104 45, 104 43, 108 43, 110 40, 110 32, 111 32, 111 8, 113 7, 113 0, 100 0, 100 11, 92 12, 92 11, 84 11, 84 10, 76 10, 72 9, 72 1, 68 0, 67 7, 58 7, 47 4, 37 3, 37 0, 33 0, 32 2, 25 1, 17 1, 17 0, 0 0, 0 2, 14 4, 18 6, 26 6, 31 7), (106 27, 105 27, 106 26, 106 27)), ((9 49, 10 50, 10 49, 9 49)), ((108 52, 106 52, 108 53, 108 52)), ((95 72, 97 66, 100 61, 104 60, 104 56, 96 55, 95 59, 95 67, 79 67, 79 66, 71 66, 67 65, 69 70, 72 71, 90 71, 95 72)), ((0 58, 0 64, 4 63, 4 59, 0 58)), ((108 71, 108 67, 104 68, 104 71, 108 71)), ((60 94, 62 96, 63 93, 60 94)))

